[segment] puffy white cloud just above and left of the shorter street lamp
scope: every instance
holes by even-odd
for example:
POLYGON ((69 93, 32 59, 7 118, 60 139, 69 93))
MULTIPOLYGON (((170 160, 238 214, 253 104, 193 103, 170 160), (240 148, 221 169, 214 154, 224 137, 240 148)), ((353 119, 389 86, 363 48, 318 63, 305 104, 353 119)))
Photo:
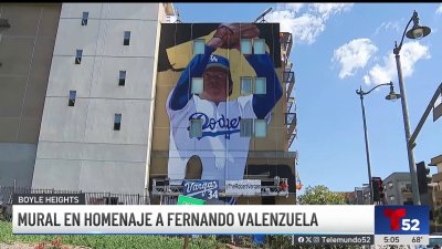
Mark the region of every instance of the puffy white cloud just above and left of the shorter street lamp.
POLYGON ((339 77, 345 79, 354 75, 358 69, 364 69, 377 51, 378 48, 370 39, 359 38, 335 50, 332 61, 340 64, 339 77))

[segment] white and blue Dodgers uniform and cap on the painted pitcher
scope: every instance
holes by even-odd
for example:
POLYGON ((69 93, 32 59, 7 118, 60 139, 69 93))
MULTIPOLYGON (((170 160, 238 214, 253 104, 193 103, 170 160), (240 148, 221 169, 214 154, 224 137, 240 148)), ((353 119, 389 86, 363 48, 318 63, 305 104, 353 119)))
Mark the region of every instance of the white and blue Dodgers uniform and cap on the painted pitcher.
POLYGON ((239 96, 218 105, 191 94, 192 77, 202 75, 206 69, 229 69, 229 61, 212 54, 206 45, 204 54, 196 55, 182 72, 177 86, 169 94, 166 108, 170 120, 168 176, 183 179, 191 156, 202 163, 201 179, 242 179, 248 159, 250 137, 240 136, 242 118, 261 118, 270 122, 270 111, 282 95, 280 81, 269 54, 252 54, 246 58, 256 75, 266 79, 266 93, 239 96), (202 136, 190 137, 190 120, 202 120, 202 136))

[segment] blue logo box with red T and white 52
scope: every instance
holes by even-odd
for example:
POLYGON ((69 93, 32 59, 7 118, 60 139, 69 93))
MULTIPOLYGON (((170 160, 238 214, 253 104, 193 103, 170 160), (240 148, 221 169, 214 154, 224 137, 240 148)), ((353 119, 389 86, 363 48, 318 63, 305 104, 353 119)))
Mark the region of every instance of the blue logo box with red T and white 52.
POLYGON ((428 206, 376 206, 375 235, 429 235, 428 206))

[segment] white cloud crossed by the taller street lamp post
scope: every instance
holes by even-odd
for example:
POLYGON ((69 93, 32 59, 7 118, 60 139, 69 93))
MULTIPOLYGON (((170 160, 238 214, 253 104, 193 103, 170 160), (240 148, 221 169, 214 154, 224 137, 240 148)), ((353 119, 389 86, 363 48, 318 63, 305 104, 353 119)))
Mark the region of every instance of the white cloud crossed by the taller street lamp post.
MULTIPOLYGON (((413 74, 414 64, 418 61, 431 58, 429 48, 418 41, 404 43, 400 55, 403 77, 413 74)), ((362 80, 366 84, 382 84, 392 81, 397 75, 394 54, 389 52, 383 56, 383 65, 373 65, 362 80)))

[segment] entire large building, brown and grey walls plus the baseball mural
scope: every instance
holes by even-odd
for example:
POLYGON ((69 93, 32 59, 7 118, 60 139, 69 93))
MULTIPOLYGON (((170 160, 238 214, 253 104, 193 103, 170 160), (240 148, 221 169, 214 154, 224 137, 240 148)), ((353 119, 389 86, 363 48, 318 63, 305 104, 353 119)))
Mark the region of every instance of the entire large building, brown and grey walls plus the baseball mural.
POLYGON ((278 23, 181 23, 171 3, 0 13, 0 186, 173 203, 183 179, 215 179, 224 200, 295 203, 293 41, 278 23), (225 193, 246 180, 259 190, 225 193))

